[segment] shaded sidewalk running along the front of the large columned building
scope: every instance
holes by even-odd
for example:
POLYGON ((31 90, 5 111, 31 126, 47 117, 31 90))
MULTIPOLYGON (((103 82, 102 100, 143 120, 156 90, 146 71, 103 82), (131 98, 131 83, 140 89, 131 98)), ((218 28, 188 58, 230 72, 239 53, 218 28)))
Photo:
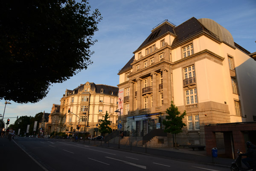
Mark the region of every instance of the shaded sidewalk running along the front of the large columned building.
MULTIPOLYGON (((89 141, 86 140, 84 142, 83 140, 81 140, 80 143, 89 144, 89 141)), ((204 163, 208 165, 218 165, 218 166, 227 167, 227 168, 229 168, 231 165, 231 162, 234 161, 234 159, 221 158, 221 157, 212 158, 206 155, 206 151, 199 151, 196 149, 195 151, 193 151, 193 149, 191 148, 178 148, 178 149, 143 148, 142 146, 131 147, 130 145, 118 145, 113 143, 108 144, 100 141, 96 141, 95 144, 94 144, 94 141, 90 141, 90 145, 96 145, 98 147, 104 147, 104 148, 112 148, 116 150, 130 151, 130 152, 152 155, 157 157, 164 157, 169 159, 204 163)))

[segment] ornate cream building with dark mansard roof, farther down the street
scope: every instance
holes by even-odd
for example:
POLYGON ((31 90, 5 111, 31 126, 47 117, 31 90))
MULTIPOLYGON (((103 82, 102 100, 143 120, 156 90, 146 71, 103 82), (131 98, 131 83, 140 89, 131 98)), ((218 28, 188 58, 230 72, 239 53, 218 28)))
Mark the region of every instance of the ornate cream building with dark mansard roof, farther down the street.
POLYGON ((110 127, 116 130, 118 114, 114 111, 118 108, 117 100, 118 87, 103 84, 86 82, 74 90, 66 90, 61 104, 52 106, 46 134, 53 131, 71 133, 77 125, 81 125, 79 132, 96 135, 95 128, 99 126, 100 119, 104 119, 106 111, 110 116, 110 127))

